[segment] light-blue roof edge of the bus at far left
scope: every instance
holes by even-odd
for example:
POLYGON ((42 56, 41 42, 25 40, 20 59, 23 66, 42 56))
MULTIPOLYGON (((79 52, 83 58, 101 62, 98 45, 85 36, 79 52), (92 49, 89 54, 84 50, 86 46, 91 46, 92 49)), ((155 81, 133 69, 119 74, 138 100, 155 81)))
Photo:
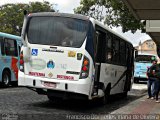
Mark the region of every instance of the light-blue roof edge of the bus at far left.
POLYGON ((0 32, 0 37, 1 36, 7 37, 7 38, 10 38, 10 39, 15 39, 15 40, 17 40, 18 44, 22 44, 22 39, 21 39, 20 36, 0 32))

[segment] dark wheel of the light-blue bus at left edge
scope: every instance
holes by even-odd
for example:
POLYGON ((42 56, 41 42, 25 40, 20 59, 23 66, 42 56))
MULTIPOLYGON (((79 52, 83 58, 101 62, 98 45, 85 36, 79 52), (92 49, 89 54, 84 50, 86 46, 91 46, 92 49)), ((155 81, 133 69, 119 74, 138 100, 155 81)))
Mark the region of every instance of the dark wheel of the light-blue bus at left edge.
POLYGON ((4 71, 2 75, 2 84, 4 87, 8 87, 10 84, 10 74, 8 71, 4 71))

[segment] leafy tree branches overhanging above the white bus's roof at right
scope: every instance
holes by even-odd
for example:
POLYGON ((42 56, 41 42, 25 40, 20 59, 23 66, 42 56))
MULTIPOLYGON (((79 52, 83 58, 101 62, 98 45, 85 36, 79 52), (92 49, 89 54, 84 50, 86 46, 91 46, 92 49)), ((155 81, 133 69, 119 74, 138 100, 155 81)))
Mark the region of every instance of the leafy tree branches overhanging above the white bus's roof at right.
POLYGON ((144 29, 143 23, 135 19, 121 0, 81 0, 74 12, 104 20, 110 27, 122 26, 123 32, 131 30, 135 33, 138 29, 144 29))

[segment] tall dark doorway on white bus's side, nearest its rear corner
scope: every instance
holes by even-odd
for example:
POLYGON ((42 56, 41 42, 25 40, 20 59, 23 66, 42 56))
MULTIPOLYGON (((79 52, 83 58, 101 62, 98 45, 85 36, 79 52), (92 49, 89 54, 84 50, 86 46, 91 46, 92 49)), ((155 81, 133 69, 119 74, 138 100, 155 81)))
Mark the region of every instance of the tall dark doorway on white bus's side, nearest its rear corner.
POLYGON ((104 50, 105 50, 105 37, 106 34, 101 31, 96 31, 96 40, 95 40, 95 90, 94 94, 98 95, 99 81, 100 81, 100 70, 101 63, 104 61, 104 50))

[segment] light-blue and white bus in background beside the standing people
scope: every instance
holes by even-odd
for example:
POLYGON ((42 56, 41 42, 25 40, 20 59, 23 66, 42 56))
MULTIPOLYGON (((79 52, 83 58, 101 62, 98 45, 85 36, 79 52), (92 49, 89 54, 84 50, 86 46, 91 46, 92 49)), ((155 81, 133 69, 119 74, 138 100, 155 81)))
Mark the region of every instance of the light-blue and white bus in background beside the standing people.
POLYGON ((158 60, 158 56, 149 53, 138 53, 135 57, 134 82, 147 81, 146 72, 152 65, 152 60, 158 60))

